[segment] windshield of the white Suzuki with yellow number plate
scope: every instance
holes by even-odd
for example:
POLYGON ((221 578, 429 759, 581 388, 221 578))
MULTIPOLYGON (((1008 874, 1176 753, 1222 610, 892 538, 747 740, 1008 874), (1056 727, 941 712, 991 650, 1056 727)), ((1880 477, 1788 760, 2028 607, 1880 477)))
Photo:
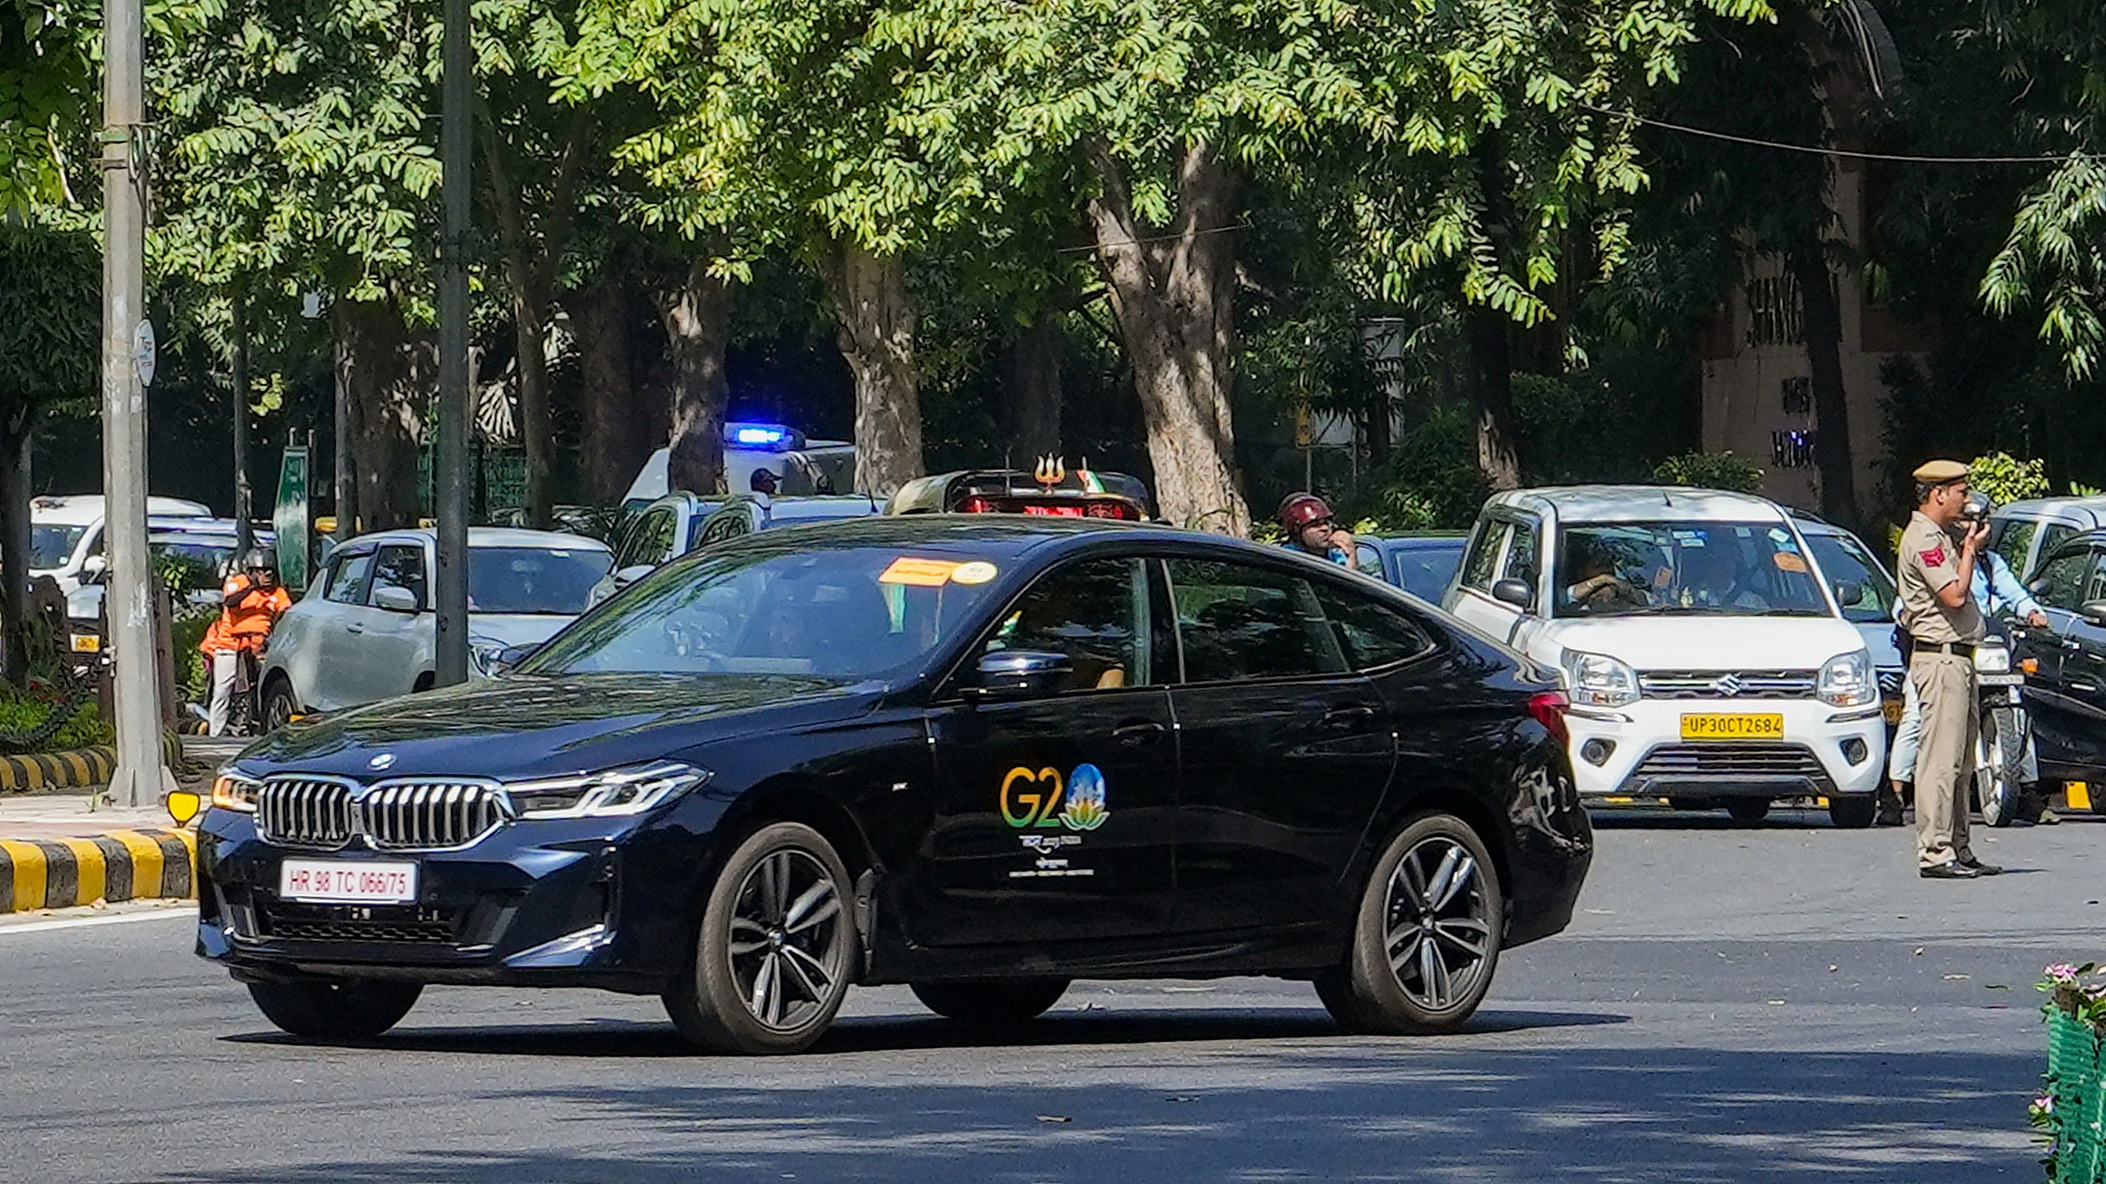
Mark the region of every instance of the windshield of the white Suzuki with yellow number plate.
POLYGON ((1769 522, 1565 526, 1558 616, 1828 616, 1799 538, 1769 522))

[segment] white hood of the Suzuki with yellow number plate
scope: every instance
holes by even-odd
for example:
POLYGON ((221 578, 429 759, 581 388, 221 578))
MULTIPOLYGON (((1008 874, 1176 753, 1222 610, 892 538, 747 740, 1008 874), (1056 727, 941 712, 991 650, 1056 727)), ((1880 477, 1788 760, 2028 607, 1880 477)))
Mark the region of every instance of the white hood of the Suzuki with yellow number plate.
POLYGON ((1624 616, 1552 620, 1531 654, 1609 654, 1634 671, 1811 671, 1864 637, 1834 616, 1624 616))

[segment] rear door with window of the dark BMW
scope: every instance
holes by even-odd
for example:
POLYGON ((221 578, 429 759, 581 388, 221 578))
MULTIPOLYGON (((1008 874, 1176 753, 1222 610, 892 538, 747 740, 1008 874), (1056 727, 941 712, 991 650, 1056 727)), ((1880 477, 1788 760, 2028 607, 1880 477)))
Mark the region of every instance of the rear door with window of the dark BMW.
POLYGON ((1184 681, 1179 932, 1310 923, 1390 784, 1394 736, 1316 580, 1259 562, 1169 559, 1184 681))

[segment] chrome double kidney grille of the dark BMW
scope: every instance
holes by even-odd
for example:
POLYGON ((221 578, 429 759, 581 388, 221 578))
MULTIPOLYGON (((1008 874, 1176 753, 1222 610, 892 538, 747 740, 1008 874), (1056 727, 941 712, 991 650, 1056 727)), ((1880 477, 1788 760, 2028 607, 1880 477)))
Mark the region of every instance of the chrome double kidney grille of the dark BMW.
POLYGON ((381 852, 465 848, 512 816, 478 780, 388 780, 364 793, 341 780, 282 776, 257 793, 257 833, 289 848, 337 850, 362 837, 381 852))

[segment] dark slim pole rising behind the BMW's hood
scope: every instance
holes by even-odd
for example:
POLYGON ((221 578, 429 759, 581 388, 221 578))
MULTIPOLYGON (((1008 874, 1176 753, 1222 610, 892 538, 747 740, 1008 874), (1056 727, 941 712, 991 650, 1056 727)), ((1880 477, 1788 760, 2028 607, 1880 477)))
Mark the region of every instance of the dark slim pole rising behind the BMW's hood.
POLYGON ((468 0, 446 0, 438 109, 438 160, 444 227, 438 242, 438 446, 432 484, 438 505, 438 555, 432 578, 438 610, 434 681, 468 681, 468 168, 474 59, 468 0))

